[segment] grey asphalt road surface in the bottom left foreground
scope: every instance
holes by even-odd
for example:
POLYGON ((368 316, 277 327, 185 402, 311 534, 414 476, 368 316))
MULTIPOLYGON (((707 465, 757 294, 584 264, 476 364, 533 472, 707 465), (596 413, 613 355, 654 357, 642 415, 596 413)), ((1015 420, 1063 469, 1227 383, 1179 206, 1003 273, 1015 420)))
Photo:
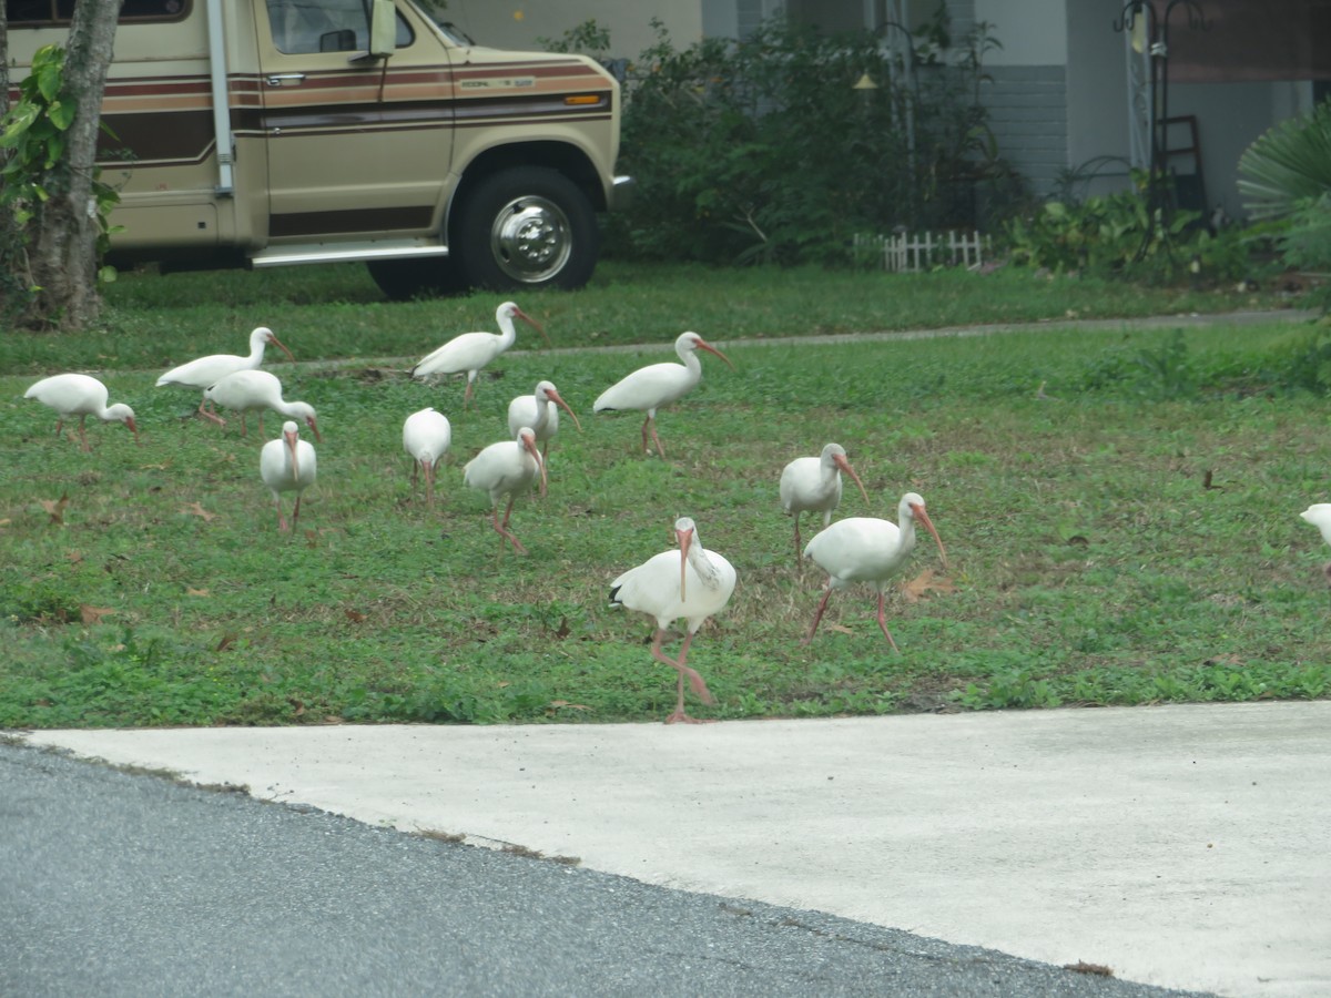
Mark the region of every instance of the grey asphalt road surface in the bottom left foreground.
POLYGON ((0 744, 0 994, 1195 993, 0 744))

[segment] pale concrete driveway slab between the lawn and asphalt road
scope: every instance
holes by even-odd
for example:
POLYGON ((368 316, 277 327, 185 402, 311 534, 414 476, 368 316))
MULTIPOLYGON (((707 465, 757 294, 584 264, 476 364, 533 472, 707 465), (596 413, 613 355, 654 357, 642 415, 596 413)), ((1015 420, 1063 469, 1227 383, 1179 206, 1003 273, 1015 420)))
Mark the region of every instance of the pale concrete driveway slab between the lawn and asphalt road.
POLYGON ((1331 994, 1328 701, 28 741, 1143 983, 1331 994))

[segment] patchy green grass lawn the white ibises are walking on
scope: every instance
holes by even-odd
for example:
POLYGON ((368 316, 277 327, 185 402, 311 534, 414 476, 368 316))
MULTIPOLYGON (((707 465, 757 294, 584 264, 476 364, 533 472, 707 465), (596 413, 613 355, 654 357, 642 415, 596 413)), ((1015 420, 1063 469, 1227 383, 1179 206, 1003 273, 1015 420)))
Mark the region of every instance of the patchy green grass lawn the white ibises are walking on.
POLYGON ((0 727, 660 720, 673 675, 648 655, 650 621, 606 591, 680 515, 739 571, 693 644, 717 699, 691 700, 695 716, 1331 692, 1331 551, 1298 518, 1331 491, 1311 321, 840 342, 819 334, 1266 302, 1030 274, 612 265, 586 291, 520 301, 555 349, 519 331, 463 413, 461 382, 403 371, 490 329, 499 298, 393 305, 359 281, 346 267, 126 275, 104 331, 3 337, 0 727), (153 387, 173 363, 241 350, 260 323, 301 361, 265 366, 323 431, 294 534, 258 479, 280 420, 260 435, 250 418, 242 438, 238 420, 193 416, 194 394, 153 387), (660 460, 639 452, 639 416, 594 416, 591 402, 672 359, 683 329, 736 370, 703 359, 699 389, 659 415, 660 460), (801 338, 773 342, 785 335, 801 338), (602 345, 619 349, 588 349, 602 345), (71 427, 57 438, 21 395, 60 370, 104 377, 141 444, 117 424, 89 427, 88 454, 71 427), (583 430, 562 426, 548 496, 516 506, 530 556, 500 556, 462 464, 507 435, 508 401, 542 378, 583 430), (430 405, 454 436, 434 510, 401 448, 402 420, 430 405), (796 567, 776 483, 829 440, 870 498, 848 490, 839 515, 894 518, 914 490, 948 544, 950 572, 922 543, 889 603, 901 655, 858 589, 800 644, 823 578, 796 567))

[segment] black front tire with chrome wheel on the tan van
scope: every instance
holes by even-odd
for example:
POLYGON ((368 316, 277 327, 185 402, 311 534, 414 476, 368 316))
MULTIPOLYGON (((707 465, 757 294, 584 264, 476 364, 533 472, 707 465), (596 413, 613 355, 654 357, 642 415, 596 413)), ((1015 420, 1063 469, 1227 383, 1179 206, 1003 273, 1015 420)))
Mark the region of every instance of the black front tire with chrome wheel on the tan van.
POLYGON ((600 236, 587 194, 544 166, 514 166, 463 193, 450 249, 467 282, 488 290, 582 287, 600 236))

